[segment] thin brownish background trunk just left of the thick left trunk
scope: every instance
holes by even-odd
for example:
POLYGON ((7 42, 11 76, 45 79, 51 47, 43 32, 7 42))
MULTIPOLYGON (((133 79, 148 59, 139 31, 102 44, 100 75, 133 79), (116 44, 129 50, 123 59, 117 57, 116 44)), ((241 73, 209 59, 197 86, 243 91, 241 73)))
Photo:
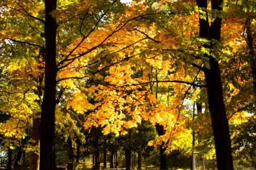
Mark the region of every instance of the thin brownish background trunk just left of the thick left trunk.
MULTIPOLYGON (((34 118, 32 124, 32 146, 39 146, 39 125, 40 125, 40 118, 34 118)), ((30 170, 39 170, 39 153, 36 151, 30 152, 30 170)))

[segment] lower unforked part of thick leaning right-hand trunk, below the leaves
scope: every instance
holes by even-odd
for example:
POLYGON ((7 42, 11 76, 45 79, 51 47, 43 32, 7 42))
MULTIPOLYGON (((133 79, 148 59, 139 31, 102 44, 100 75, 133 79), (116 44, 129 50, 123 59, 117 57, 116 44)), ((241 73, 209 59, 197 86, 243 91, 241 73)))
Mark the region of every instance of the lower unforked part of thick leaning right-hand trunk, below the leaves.
POLYGON ((226 117, 220 68, 214 58, 210 58, 210 70, 205 71, 210 118, 214 134, 217 167, 233 169, 232 149, 229 134, 228 118, 226 117))

